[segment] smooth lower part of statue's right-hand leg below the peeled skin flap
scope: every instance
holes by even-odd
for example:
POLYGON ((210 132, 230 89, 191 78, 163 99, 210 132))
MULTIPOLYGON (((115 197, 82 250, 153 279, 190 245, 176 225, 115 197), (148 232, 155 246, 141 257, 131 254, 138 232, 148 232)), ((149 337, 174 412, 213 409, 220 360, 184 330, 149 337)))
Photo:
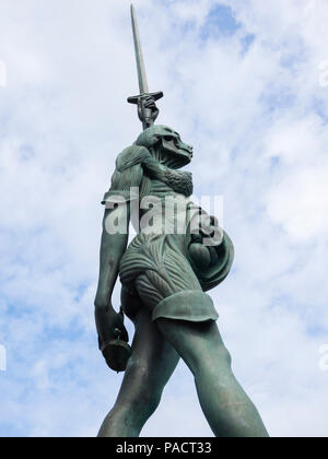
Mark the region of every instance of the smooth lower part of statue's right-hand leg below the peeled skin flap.
POLYGON ((232 373, 216 323, 166 318, 156 322, 192 372, 201 408, 215 436, 267 437, 257 409, 232 373))

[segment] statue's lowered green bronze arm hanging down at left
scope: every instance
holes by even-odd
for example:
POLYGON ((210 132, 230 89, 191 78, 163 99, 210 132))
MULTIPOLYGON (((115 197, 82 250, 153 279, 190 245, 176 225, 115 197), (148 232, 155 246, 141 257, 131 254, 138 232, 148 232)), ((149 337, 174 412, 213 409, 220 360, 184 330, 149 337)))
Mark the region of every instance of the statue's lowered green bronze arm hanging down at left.
POLYGON ((119 274, 120 259, 127 248, 130 222, 130 201, 133 188, 139 188, 143 178, 142 163, 150 153, 147 149, 132 145, 126 149, 116 161, 112 186, 105 193, 106 205, 101 244, 101 263, 98 286, 95 298, 95 321, 99 337, 99 346, 116 337, 128 341, 122 316, 117 314, 112 304, 113 291, 119 274), (112 231, 110 222, 119 222, 119 231, 112 231))

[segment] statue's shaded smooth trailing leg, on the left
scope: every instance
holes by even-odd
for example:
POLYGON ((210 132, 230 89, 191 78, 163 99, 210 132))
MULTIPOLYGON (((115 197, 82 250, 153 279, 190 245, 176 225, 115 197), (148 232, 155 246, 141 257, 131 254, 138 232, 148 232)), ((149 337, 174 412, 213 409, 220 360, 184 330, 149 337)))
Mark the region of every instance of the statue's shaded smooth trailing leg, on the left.
POLYGON ((179 356, 142 308, 133 318, 136 334, 115 407, 105 419, 99 437, 138 437, 156 410, 164 386, 179 356))

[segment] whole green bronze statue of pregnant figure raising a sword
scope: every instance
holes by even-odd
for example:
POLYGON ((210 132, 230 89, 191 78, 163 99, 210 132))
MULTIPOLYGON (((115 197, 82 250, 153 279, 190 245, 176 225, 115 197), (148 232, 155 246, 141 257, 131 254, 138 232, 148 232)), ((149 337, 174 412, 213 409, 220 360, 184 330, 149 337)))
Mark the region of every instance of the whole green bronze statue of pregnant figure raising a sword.
POLYGON ((149 91, 133 5, 131 17, 140 95, 128 102, 137 105, 143 131, 117 156, 103 199, 95 298, 99 349, 109 368, 125 376, 98 436, 138 437, 181 358, 216 437, 267 437, 256 407, 232 372, 219 315, 207 293, 227 276, 233 243, 214 216, 190 201, 192 175, 183 168, 192 160, 192 146, 174 129, 155 125, 163 93, 149 91), (172 202, 178 205, 168 209, 172 202), (136 214, 138 234, 128 244, 136 214), (121 307, 116 313, 112 295, 118 278, 121 307), (131 348, 125 315, 136 329, 131 348))

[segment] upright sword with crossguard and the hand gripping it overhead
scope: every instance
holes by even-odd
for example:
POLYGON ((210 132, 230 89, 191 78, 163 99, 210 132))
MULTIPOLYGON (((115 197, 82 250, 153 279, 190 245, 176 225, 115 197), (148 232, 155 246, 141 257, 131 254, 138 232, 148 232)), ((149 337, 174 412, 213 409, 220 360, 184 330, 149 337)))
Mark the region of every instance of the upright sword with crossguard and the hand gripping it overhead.
MULTIPOLYGON (((155 102, 164 96, 163 92, 150 93, 148 87, 144 60, 141 49, 140 33, 136 16, 136 9, 131 4, 131 20, 132 20, 132 32, 136 49, 136 60, 137 60, 137 70, 138 70, 138 80, 139 80, 139 90, 140 95, 132 96, 128 98, 129 104, 138 105, 138 115, 142 121, 143 129, 148 129, 154 123, 154 120, 159 113, 154 111, 155 102), (152 108, 151 108, 152 106, 152 108)), ((156 108, 155 108, 156 109, 156 108)), ((157 111, 157 110, 156 110, 157 111)))

